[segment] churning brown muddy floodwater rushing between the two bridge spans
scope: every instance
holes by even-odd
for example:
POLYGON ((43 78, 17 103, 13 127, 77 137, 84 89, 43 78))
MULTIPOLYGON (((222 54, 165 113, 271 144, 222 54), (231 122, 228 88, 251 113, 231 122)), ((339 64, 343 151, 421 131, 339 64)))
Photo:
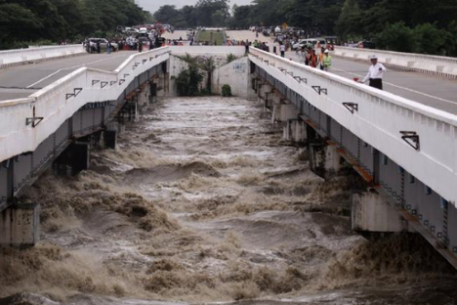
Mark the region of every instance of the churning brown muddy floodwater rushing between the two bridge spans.
POLYGON ((306 158, 256 101, 165 100, 90 171, 28 191, 42 241, 1 250, 0 304, 456 304, 421 237, 352 232, 364 184, 306 158))

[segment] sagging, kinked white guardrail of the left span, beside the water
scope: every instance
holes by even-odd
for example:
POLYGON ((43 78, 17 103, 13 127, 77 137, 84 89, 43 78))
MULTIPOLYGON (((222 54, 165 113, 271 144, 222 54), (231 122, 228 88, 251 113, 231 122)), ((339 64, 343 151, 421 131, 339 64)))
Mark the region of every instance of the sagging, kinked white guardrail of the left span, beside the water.
POLYGON ((26 99, 0 102, 0 162, 33 152, 82 106, 117 100, 133 79, 169 58, 168 47, 132 55, 116 70, 79 68, 26 99))

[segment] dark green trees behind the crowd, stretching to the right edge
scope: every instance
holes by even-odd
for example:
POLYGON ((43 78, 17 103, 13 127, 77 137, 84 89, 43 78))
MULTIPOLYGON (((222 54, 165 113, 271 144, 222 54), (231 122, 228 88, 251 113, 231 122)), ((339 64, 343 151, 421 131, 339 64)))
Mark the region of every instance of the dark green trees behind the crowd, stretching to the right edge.
POLYGON ((457 0, 199 0, 164 5, 154 18, 175 27, 296 26, 310 36, 372 39, 395 51, 457 56, 457 0))

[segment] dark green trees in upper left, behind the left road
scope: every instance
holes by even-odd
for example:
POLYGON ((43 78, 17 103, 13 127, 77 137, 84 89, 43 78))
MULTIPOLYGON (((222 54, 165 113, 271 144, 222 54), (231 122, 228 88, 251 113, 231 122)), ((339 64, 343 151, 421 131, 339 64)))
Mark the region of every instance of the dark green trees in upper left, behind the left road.
POLYGON ((0 0, 0 48, 107 36, 152 19, 130 0, 0 0))

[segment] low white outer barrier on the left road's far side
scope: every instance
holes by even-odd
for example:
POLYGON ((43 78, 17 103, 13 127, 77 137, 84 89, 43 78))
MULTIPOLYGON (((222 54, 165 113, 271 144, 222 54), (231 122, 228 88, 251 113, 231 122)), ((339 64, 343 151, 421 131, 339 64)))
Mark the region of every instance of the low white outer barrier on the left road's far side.
POLYGON ((62 58, 85 53, 82 45, 55 47, 31 47, 0 51, 0 68, 44 61, 49 58, 62 58))

